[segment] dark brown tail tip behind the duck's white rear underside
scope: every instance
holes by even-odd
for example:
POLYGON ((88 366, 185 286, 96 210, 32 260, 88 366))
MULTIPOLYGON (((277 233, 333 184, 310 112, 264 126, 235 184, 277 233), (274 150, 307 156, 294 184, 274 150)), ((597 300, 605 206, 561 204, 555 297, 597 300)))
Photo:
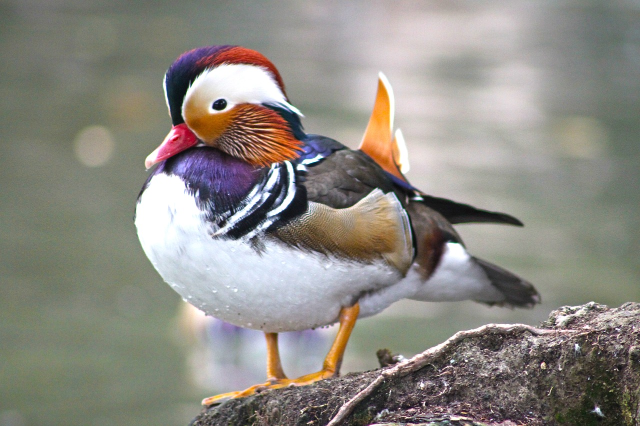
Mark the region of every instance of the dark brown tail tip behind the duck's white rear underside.
POLYGON ((529 281, 525 281, 516 274, 497 265, 486 262, 486 260, 476 257, 473 260, 483 269, 487 278, 505 297, 504 301, 483 303, 520 306, 523 308, 531 308, 534 304, 540 303, 540 294, 529 281))

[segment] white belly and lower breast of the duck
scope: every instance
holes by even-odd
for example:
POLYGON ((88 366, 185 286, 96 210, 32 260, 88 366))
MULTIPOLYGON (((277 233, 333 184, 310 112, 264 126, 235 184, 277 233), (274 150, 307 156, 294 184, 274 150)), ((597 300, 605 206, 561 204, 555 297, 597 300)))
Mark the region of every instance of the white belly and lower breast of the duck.
MULTIPOLYGON (((208 315, 269 332, 332 324, 340 308, 400 280, 382 262, 360 264, 266 242, 260 254, 214 229, 180 178, 152 178, 136 209, 142 247, 164 280, 208 315)), ((406 297, 365 303, 363 315, 406 297)), ((362 307, 361 307, 362 308, 362 307)))

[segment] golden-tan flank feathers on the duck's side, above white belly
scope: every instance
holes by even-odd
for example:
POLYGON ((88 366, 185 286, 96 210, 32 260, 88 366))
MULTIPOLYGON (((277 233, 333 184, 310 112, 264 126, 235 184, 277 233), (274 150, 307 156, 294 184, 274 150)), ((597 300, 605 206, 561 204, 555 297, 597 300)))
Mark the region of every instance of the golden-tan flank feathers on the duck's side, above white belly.
POLYGON ((371 264, 384 260, 406 274, 413 259, 408 216, 394 194, 374 189, 346 209, 310 202, 305 214, 273 231, 278 239, 327 256, 371 264))

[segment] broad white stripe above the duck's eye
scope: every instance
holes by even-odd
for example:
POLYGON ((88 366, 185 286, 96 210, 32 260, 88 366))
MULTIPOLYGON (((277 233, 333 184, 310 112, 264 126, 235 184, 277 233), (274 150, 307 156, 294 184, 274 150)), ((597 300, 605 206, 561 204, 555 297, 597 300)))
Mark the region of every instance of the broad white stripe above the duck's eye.
POLYGON ((287 102, 273 75, 255 65, 223 64, 205 70, 187 90, 183 111, 184 105, 195 97, 196 93, 198 100, 207 102, 211 113, 220 112, 212 107, 213 102, 218 99, 227 101, 225 110, 237 104, 275 103, 290 107, 294 113, 300 112, 287 102))

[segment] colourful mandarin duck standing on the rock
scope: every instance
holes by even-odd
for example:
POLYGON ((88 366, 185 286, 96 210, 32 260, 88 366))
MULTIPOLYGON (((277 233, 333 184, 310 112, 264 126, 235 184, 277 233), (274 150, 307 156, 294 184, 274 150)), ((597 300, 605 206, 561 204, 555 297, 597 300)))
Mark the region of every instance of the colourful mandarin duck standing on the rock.
POLYGON ((184 52, 163 87, 172 129, 145 160, 155 168, 134 214, 143 251, 185 301, 266 338, 266 382, 205 406, 338 375, 356 320, 401 299, 540 301, 531 283, 468 253, 452 226, 522 222, 408 182, 383 74, 358 149, 307 133, 275 65, 246 47, 184 52), (336 323, 322 368, 288 378, 278 333, 336 323))

